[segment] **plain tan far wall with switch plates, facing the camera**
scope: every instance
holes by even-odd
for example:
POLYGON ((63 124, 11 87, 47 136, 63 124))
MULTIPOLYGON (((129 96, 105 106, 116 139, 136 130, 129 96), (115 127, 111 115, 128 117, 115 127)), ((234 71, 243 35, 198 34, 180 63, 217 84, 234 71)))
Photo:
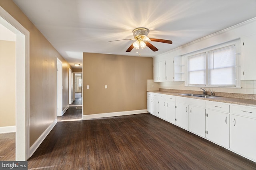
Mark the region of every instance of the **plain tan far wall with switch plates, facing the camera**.
POLYGON ((146 109, 148 79, 152 58, 84 53, 83 114, 146 109))

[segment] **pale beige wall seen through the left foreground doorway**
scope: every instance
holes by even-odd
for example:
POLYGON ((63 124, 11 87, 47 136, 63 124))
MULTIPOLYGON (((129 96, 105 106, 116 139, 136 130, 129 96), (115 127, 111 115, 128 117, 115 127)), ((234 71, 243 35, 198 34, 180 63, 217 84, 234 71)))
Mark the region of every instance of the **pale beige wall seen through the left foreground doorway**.
POLYGON ((15 46, 15 41, 0 40, 0 127, 16 125, 15 46))

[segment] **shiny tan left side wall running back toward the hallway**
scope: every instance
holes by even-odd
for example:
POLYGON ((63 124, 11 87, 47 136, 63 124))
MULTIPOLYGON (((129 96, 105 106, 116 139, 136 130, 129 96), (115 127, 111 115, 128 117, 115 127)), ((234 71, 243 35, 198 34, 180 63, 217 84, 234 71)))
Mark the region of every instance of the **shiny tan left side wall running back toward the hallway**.
POLYGON ((62 61, 63 108, 68 105, 72 68, 12 0, 0 6, 30 32, 30 146, 56 119, 56 57, 62 61))

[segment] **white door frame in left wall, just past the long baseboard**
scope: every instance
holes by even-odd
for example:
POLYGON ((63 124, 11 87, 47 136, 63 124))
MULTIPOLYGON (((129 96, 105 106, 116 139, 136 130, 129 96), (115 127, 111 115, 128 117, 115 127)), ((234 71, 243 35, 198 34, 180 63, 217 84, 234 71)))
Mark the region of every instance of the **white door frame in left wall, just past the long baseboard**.
POLYGON ((62 61, 56 57, 56 118, 62 116, 62 61))

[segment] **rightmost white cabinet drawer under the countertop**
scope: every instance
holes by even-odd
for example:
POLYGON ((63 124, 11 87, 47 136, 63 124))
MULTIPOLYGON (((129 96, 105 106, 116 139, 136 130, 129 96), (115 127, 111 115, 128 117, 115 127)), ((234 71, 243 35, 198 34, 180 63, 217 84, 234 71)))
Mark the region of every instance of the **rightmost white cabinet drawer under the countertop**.
POLYGON ((256 108, 240 105, 231 105, 231 113, 256 119, 256 108))

